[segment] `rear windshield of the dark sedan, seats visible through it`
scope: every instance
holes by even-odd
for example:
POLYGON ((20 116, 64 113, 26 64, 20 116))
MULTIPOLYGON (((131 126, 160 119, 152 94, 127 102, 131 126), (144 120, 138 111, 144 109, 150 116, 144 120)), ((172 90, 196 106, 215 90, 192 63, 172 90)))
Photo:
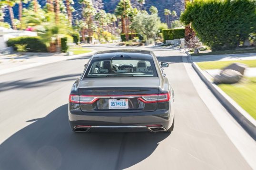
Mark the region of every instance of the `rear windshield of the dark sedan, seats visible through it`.
POLYGON ((86 77, 157 76, 153 60, 112 59, 93 61, 86 77))

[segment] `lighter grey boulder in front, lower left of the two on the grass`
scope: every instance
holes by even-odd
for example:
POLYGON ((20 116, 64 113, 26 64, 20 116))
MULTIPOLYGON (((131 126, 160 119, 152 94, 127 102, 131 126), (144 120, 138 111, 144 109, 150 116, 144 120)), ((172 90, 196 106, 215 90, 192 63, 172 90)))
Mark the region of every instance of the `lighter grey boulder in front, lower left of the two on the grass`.
POLYGON ((214 77, 216 84, 233 84, 239 82, 243 75, 235 70, 226 69, 214 77))

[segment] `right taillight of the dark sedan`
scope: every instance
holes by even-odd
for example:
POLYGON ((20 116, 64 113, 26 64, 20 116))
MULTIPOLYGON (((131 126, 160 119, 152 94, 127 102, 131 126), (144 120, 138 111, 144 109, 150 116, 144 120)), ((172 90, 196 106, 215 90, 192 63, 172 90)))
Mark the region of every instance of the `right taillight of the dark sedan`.
POLYGON ((151 95, 143 95, 138 98, 144 103, 157 103, 157 102, 167 102, 170 100, 170 94, 151 94, 151 95))

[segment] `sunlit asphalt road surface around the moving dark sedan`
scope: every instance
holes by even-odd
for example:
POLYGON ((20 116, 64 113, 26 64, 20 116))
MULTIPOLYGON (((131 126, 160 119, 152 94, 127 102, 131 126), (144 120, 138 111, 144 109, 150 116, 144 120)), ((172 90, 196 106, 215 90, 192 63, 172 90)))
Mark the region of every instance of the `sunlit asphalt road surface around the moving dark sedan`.
POLYGON ((250 170, 197 94, 181 53, 155 53, 170 62, 171 134, 71 132, 69 90, 89 57, 0 76, 0 170, 250 170))

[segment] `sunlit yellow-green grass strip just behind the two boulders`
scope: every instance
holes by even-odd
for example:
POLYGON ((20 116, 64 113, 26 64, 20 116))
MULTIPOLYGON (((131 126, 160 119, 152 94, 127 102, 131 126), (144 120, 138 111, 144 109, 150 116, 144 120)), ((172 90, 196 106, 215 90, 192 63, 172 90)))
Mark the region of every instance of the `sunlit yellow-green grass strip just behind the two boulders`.
POLYGON ((256 67, 256 60, 206 61, 206 62, 197 62, 197 65, 202 70, 207 70, 207 69, 222 69, 232 63, 243 63, 249 67, 256 67))

